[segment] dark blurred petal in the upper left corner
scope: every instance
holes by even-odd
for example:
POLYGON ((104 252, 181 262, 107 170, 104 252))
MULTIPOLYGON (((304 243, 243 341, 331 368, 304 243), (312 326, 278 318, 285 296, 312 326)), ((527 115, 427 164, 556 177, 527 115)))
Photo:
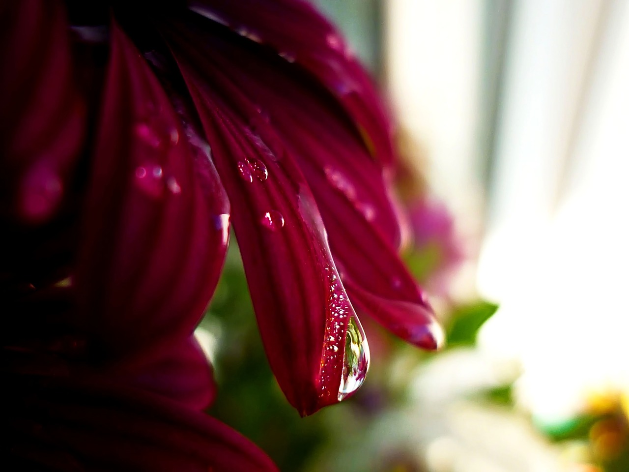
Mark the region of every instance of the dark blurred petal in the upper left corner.
POLYGON ((42 223, 57 210, 81 152, 85 104, 60 3, 5 3, 0 24, 0 215, 42 223))

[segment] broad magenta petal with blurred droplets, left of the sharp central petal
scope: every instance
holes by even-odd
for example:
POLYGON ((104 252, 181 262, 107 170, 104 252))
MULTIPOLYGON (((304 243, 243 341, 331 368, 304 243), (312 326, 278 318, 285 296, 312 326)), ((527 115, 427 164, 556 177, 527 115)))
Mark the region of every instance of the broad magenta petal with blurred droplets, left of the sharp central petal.
POLYGON ((185 339, 218 281, 229 205, 130 40, 111 50, 74 274, 78 322, 101 356, 185 339))

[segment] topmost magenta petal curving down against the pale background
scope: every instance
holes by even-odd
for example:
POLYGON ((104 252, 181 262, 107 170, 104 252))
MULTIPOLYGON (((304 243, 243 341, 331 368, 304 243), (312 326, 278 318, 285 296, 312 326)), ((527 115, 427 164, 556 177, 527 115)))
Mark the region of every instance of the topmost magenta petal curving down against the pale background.
POLYGON ((392 164, 391 121, 376 90, 342 36, 313 6, 295 0, 191 0, 189 5, 303 66, 343 105, 366 147, 387 166, 392 164))

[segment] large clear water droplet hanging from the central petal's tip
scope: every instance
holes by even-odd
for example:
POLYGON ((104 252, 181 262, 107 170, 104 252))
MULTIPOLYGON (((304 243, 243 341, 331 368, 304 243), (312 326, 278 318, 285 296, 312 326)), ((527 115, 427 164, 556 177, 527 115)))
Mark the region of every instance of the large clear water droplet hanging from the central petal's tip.
POLYGON ((338 401, 352 395, 365 381, 369 370, 369 344, 358 317, 353 316, 345 334, 343 374, 338 387, 338 401))

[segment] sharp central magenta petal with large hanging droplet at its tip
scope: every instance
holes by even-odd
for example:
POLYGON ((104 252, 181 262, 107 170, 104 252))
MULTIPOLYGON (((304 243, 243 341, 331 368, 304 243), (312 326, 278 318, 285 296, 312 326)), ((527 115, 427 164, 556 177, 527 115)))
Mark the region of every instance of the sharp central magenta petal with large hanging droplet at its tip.
POLYGON ((185 31, 165 34, 230 195, 270 365, 289 402, 302 415, 313 413, 339 401, 345 335, 355 317, 313 197, 293 157, 277 148, 277 137, 272 149, 241 118, 258 116, 255 104, 215 74, 185 31))

